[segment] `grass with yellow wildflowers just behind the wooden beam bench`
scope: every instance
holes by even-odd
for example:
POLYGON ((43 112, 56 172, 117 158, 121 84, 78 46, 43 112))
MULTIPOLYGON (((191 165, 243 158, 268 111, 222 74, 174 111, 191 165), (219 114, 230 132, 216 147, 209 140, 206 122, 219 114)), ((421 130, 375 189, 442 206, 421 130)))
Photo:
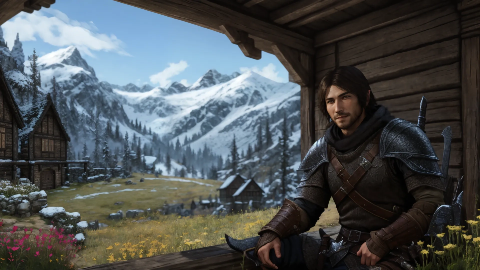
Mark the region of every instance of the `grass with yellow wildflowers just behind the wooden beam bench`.
MULTIPOLYGON (((84 249, 74 263, 79 268, 133 258, 145 258, 192 248, 224 244, 224 235, 236 239, 256 236, 278 211, 265 209, 217 218, 215 216, 158 216, 158 220, 123 220, 113 226, 88 231, 84 249)), ((338 213, 331 201, 315 227, 336 225, 338 213)))

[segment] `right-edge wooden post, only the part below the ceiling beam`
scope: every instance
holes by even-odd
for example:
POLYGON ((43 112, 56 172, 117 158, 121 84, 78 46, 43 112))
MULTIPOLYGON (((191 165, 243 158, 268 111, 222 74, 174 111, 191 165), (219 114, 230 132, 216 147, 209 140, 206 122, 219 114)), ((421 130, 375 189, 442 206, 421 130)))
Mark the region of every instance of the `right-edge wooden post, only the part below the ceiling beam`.
POLYGON ((464 203, 467 220, 474 218, 480 181, 480 37, 462 40, 462 124, 464 203))

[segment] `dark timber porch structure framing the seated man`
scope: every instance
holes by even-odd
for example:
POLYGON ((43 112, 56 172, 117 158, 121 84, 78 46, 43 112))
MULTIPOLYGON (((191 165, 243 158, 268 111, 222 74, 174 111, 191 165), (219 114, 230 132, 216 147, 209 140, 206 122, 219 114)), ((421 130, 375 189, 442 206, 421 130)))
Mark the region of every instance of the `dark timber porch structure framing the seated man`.
MULTIPOLYGON (((425 96, 425 131, 439 160, 441 132, 452 127, 449 173, 464 176, 464 219, 473 219, 480 209, 475 200, 480 192, 480 0, 117 1, 223 33, 247 57, 274 54, 290 81, 300 85, 302 158, 327 126, 317 89, 329 70, 359 68, 378 102, 413 123, 425 96)), ((0 24, 22 10, 45 7, 45 2, 2 1, 0 24)), ((205 259, 206 252, 91 269, 241 269, 240 253, 205 259)))

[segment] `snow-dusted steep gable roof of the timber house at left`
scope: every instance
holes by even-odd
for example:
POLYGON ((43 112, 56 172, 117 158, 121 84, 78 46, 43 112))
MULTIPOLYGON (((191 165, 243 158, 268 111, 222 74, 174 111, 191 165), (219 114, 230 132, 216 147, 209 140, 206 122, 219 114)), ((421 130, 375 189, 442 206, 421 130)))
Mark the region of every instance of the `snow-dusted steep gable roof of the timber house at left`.
POLYGON ((67 131, 65 131, 57 109, 55 108, 55 105, 53 105, 50 93, 48 93, 47 98, 40 99, 35 103, 20 107, 20 111, 22 112, 22 116, 24 118, 25 127, 18 132, 18 140, 20 141, 19 145, 21 145, 21 142, 29 139, 36 127, 42 123, 41 120, 47 114, 48 109, 50 108, 53 110, 57 121, 60 123, 60 131, 65 135, 67 140, 70 141, 70 136, 67 134, 67 131))

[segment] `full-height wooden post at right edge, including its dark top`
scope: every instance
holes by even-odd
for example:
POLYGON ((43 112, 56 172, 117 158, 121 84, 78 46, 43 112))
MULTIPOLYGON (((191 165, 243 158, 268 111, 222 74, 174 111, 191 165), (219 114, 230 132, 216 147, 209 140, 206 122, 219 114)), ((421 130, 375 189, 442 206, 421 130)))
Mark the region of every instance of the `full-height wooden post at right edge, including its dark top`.
POLYGON ((480 0, 458 4, 462 27, 463 211, 473 220, 480 177, 480 0))

